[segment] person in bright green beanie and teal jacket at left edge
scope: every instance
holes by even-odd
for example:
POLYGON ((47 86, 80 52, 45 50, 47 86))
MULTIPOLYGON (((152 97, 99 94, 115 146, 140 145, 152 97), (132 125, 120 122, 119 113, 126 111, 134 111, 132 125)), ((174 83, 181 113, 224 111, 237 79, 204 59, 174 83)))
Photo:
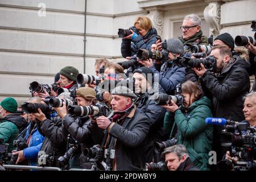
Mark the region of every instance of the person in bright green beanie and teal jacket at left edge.
POLYGON ((9 151, 14 150, 13 140, 18 137, 20 131, 27 127, 28 122, 20 114, 16 114, 18 104, 12 97, 5 98, 0 104, 0 138, 3 143, 9 143, 9 151))

